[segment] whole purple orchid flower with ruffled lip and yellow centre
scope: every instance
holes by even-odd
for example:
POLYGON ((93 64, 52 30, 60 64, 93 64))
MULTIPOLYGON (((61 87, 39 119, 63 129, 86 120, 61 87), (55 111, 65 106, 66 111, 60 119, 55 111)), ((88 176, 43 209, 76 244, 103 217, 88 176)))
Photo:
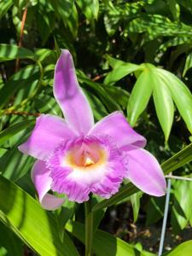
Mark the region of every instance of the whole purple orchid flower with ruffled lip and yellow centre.
POLYGON ((47 210, 70 201, 89 200, 90 192, 109 198, 128 178, 149 195, 161 196, 166 180, 158 161, 143 147, 146 139, 133 131, 121 112, 94 125, 90 104, 75 74, 73 57, 64 49, 55 66, 54 96, 65 119, 42 114, 31 137, 19 149, 38 160, 32 181, 47 210))

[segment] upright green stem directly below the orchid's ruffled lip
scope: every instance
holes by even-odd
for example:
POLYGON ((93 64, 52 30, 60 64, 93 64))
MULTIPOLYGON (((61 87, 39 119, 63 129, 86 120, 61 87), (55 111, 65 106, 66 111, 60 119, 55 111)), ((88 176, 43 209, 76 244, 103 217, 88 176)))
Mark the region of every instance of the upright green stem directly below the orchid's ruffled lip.
POLYGON ((93 212, 91 211, 91 201, 84 203, 85 212, 85 254, 91 256, 92 238, 93 238, 93 212))

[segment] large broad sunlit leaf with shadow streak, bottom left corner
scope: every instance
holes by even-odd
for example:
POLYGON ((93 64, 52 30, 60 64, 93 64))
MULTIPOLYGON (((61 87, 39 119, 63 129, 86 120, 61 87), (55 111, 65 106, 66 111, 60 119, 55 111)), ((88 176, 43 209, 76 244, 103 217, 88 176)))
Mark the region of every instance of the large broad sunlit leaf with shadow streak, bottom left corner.
POLYGON ((54 215, 4 177, 0 177, 0 219, 40 255, 79 255, 68 236, 61 242, 54 215))

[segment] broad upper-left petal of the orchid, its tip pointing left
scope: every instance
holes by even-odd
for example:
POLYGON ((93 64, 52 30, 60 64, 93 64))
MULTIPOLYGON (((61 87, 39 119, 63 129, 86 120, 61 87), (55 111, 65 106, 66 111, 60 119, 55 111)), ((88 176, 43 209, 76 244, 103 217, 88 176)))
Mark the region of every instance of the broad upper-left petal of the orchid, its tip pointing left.
POLYGON ((63 139, 75 137, 75 133, 67 126, 64 119, 42 114, 36 121, 31 137, 19 149, 24 154, 44 160, 61 143, 63 139))

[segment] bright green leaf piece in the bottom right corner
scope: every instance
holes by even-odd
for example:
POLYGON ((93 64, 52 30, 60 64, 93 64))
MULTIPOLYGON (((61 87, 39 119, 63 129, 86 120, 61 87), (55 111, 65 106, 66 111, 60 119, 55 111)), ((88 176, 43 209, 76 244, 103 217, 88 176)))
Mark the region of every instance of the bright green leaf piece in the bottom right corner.
POLYGON ((172 250, 170 253, 164 253, 163 256, 189 256, 192 252, 192 240, 185 241, 179 244, 176 248, 172 250))

